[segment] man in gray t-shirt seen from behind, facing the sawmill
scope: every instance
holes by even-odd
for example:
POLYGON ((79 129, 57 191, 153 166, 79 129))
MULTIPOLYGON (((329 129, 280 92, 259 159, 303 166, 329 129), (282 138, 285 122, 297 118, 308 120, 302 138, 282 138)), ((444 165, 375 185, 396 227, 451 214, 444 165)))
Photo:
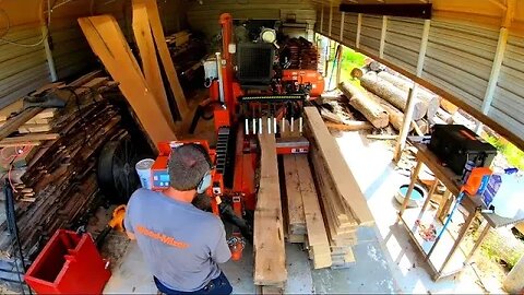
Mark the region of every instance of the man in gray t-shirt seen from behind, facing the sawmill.
POLYGON ((231 257, 222 221, 191 204, 211 185, 212 163, 196 144, 175 148, 168 162, 170 186, 163 192, 136 190, 124 225, 136 239, 159 292, 230 294, 218 263, 231 257))

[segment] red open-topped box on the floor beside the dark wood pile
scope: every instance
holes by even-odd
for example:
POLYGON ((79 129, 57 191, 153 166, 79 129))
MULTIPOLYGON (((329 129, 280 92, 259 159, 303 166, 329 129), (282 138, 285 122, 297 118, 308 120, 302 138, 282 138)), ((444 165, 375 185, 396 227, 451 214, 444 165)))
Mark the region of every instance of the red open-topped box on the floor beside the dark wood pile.
POLYGON ((88 234, 58 229, 24 280, 38 294, 100 294, 111 276, 88 234))

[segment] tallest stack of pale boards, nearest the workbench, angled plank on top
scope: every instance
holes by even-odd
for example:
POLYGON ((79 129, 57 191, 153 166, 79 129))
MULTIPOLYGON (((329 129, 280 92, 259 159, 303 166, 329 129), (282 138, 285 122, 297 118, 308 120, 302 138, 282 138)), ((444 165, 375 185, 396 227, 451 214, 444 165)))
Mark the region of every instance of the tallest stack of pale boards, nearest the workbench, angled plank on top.
MULTIPOLYGON (((373 216, 317 108, 305 107, 305 114, 306 135, 311 144, 310 158, 325 223, 332 268, 345 268, 355 261, 352 246, 357 243, 358 226, 372 225, 373 216)), ((303 206, 307 217, 306 200, 303 206)), ((307 226, 309 234, 309 224, 307 226)))

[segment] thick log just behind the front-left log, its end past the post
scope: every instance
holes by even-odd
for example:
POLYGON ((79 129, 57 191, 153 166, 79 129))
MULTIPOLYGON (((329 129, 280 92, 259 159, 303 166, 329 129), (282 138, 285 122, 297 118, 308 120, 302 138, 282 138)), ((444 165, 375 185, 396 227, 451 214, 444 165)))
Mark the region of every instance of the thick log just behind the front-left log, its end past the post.
MULTIPOLYGON (((377 73, 366 73, 362 78, 360 78, 360 85, 362 85, 362 87, 365 87, 366 90, 390 102, 396 108, 402 109, 403 111, 405 110, 408 95, 404 91, 395 87, 390 82, 379 79, 377 76, 377 73)), ((412 119, 419 120, 424 118, 424 116, 426 116, 427 111, 427 105, 424 104, 420 99, 415 98, 412 119)))

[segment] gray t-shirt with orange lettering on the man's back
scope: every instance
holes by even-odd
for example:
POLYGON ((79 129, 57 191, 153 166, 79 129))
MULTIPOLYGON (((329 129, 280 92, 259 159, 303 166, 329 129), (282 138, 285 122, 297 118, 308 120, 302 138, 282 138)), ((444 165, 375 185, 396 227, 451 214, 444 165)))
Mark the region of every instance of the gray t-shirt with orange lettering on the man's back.
POLYGON ((221 274, 217 263, 231 257, 217 216, 162 192, 136 190, 129 200, 124 225, 136 236, 153 275, 172 290, 204 287, 221 274))

